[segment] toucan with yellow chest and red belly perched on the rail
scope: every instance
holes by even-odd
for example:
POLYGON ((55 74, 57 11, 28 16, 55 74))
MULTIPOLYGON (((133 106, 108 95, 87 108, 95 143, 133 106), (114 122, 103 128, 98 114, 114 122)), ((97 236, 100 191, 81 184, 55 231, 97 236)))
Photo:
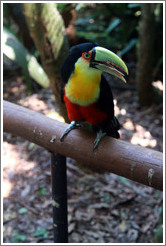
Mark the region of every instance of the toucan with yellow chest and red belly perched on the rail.
POLYGON ((113 95, 103 72, 126 82, 128 69, 119 56, 95 42, 70 48, 61 77, 62 100, 71 123, 60 137, 61 141, 82 122, 91 124, 97 132, 93 149, 105 135, 119 138, 120 124, 114 115, 113 95))

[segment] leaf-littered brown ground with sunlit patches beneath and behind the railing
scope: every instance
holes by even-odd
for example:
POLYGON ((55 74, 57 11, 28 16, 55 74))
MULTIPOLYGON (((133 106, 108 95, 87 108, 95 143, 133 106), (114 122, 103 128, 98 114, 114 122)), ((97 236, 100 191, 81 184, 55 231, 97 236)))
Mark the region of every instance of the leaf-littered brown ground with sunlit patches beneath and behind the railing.
MULTIPOLYGON (((162 151, 162 104, 140 109, 136 90, 113 94, 121 139, 162 151)), ((5 78, 4 99, 62 120, 51 90, 27 96, 19 75, 5 78)), ((162 192, 69 158, 67 179, 70 243, 162 242, 162 192)), ((3 191, 4 243, 52 243, 50 153, 4 133, 3 191)))

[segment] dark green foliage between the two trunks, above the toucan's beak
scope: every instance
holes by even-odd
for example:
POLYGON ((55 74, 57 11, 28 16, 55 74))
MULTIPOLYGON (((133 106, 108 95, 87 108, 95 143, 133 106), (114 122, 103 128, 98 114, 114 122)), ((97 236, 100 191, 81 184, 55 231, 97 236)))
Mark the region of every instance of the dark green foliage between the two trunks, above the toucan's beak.
MULTIPOLYGON (((77 35, 122 50, 130 40, 138 38, 140 7, 127 3, 82 4, 76 21, 77 35)), ((129 45, 126 52, 133 46, 129 45)))

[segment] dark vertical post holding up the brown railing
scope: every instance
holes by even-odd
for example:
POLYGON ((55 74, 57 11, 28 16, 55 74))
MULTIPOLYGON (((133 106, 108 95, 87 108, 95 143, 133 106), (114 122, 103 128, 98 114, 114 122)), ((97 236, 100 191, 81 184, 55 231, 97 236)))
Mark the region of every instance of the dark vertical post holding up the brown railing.
POLYGON ((66 157, 51 154, 54 243, 68 242, 66 157))

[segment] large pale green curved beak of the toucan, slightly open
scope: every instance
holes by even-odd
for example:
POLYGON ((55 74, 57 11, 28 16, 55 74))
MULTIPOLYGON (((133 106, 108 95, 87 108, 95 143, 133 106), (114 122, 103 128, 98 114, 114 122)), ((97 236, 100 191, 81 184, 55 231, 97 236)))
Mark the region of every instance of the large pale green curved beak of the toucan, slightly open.
POLYGON ((112 74, 126 83, 124 76, 128 74, 128 68, 122 59, 110 50, 94 47, 90 67, 112 74))

